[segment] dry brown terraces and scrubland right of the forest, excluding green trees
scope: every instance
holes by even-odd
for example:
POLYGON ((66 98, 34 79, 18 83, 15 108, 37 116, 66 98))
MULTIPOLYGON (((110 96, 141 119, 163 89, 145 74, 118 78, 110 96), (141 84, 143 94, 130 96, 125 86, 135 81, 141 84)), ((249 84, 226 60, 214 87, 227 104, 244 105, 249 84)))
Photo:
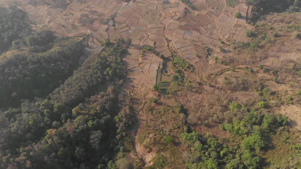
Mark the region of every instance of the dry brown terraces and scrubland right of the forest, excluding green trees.
POLYGON ((220 126, 254 111, 290 118, 289 126, 267 138, 273 148, 255 152, 265 158, 262 165, 300 166, 300 150, 293 147, 301 144, 300 13, 270 14, 250 25, 244 1, 15 1, 37 30, 66 37, 90 34, 92 52, 106 39, 131 39, 123 57, 127 94, 119 97, 131 97, 137 123, 122 135, 128 151, 117 155, 117 166, 125 158, 138 168, 185 168, 191 159, 183 156, 192 150, 181 134, 193 130, 242 151, 237 147, 249 135, 220 126), (164 93, 153 90, 158 68, 159 81, 170 82, 164 93), (232 109, 235 103, 239 108, 232 109))

